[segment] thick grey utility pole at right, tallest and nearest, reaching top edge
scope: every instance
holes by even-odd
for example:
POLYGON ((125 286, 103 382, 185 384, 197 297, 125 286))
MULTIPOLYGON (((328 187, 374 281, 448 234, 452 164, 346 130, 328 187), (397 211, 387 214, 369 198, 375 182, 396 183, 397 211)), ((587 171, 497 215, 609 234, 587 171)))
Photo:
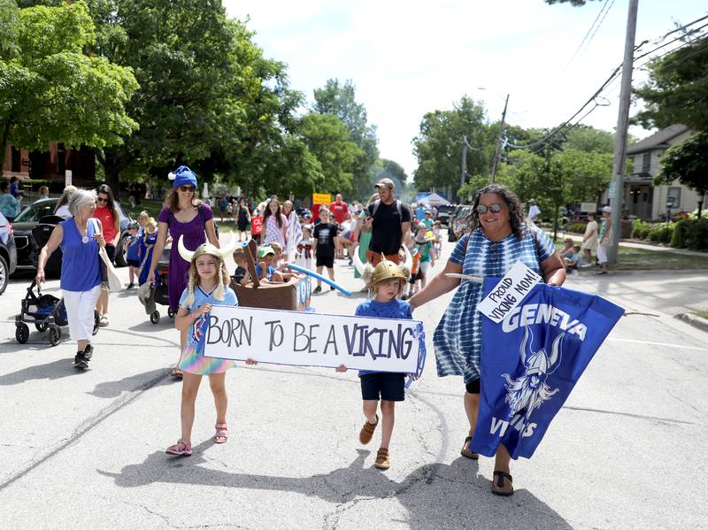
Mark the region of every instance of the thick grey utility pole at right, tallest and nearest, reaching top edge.
POLYGON ((612 241, 610 242, 608 260, 611 264, 617 261, 617 255, 620 249, 620 220, 622 219, 622 199, 625 192, 624 174, 627 164, 627 127, 629 125, 629 100, 632 96, 632 65, 635 61, 636 12, 638 8, 639 0, 629 0, 625 57, 622 63, 620 111, 617 116, 614 161, 612 163, 612 185, 610 187, 612 241))

